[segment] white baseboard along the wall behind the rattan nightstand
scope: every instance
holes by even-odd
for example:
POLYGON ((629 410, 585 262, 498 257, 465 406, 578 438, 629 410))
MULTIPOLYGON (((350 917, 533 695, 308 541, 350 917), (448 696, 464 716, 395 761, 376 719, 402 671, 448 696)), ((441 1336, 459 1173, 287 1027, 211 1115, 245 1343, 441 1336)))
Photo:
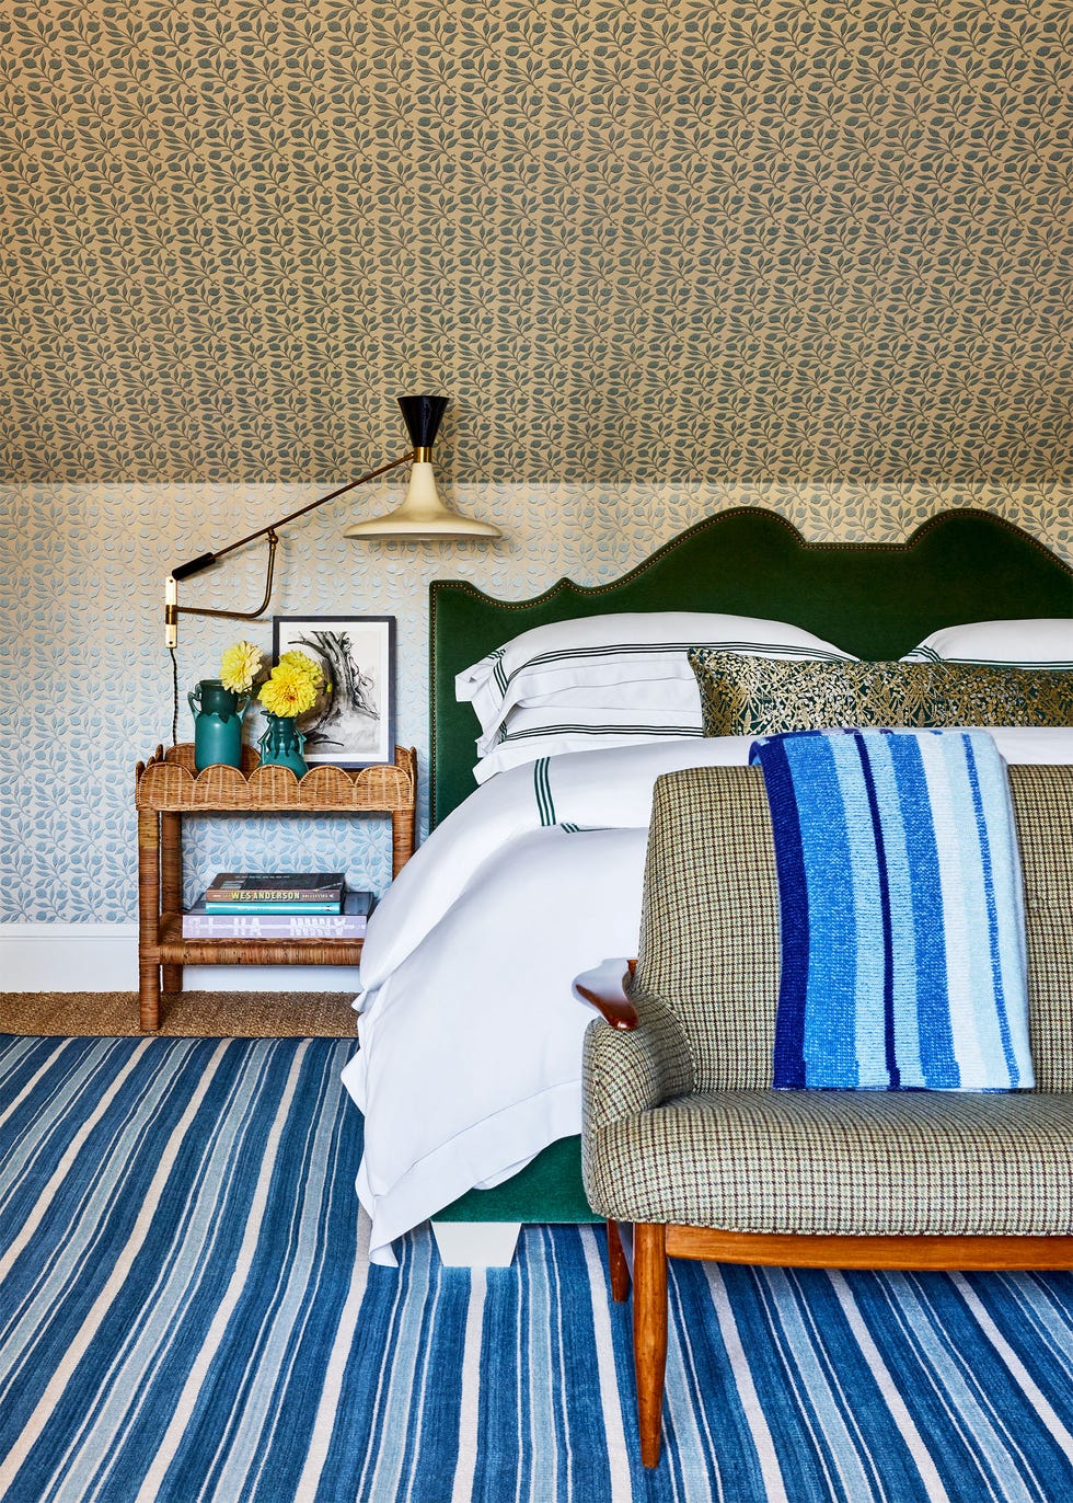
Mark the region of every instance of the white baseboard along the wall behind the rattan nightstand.
MULTIPOLYGON (((138 926, 0 924, 0 992, 137 992, 138 926)), ((186 992, 356 992, 356 965, 188 965, 186 992)))

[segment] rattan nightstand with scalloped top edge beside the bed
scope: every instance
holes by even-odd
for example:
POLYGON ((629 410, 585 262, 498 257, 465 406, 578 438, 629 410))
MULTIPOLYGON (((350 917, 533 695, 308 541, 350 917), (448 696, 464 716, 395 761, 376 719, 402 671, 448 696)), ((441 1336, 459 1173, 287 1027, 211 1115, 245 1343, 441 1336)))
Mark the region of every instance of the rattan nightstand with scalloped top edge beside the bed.
POLYGON ((156 747, 138 762, 138 996, 143 1033, 159 1025, 161 990, 182 990, 183 965, 358 965, 361 939, 185 939, 182 932, 183 815, 391 816, 391 875, 413 855, 418 759, 395 747, 394 765, 350 771, 317 767, 296 779, 261 767, 243 747, 242 768, 194 770, 194 747, 156 747), (161 984, 162 981, 162 984, 161 984))

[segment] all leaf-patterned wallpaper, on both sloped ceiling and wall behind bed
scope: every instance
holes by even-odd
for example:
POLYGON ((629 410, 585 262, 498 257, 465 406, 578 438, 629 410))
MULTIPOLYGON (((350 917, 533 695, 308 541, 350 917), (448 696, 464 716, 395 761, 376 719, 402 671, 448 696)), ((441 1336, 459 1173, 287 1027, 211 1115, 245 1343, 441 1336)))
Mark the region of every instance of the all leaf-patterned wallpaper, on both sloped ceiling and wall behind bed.
MULTIPOLYGON (((165 573, 404 452, 407 391, 503 541, 344 541, 382 482, 287 529, 272 609, 397 616, 422 761, 434 577, 595 583, 741 504, 1073 558, 1065 0, 11 0, 0 95, 6 921, 134 917, 165 573)), ((183 621, 182 739, 239 634, 183 621)), ((213 821, 188 887, 340 860, 383 885, 385 830, 213 821)))

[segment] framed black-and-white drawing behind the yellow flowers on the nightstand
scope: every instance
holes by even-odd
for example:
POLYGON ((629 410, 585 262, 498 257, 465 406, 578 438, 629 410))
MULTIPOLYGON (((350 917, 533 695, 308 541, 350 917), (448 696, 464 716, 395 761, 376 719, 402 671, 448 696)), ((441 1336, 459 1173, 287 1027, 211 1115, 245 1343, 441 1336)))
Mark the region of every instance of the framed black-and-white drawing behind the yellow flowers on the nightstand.
POLYGON ((325 688, 298 729, 310 767, 371 767, 395 759, 395 618, 274 616, 272 660, 305 652, 325 688))

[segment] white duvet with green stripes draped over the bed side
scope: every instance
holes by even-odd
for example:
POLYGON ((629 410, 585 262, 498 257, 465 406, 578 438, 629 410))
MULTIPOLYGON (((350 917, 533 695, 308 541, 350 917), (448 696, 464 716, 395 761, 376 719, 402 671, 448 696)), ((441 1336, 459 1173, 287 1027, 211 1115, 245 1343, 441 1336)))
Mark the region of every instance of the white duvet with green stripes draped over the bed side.
MULTIPOLYGON (((1073 762, 1073 729, 995 730, 1008 762, 1073 762)), ((741 765, 751 736, 579 752, 500 773, 439 825, 362 953, 358 1195, 371 1258, 475 1186, 582 1130, 571 981, 637 950, 652 783, 741 765)))

